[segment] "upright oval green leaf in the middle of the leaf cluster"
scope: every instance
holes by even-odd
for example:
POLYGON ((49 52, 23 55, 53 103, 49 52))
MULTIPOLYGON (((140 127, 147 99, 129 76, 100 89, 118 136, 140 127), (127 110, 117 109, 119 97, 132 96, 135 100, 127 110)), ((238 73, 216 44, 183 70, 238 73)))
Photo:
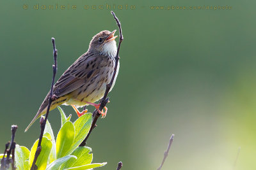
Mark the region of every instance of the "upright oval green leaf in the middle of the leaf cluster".
POLYGON ((61 127, 56 139, 57 159, 65 157, 72 152, 70 152, 70 147, 74 141, 74 133, 75 129, 72 122, 65 122, 65 124, 61 127))

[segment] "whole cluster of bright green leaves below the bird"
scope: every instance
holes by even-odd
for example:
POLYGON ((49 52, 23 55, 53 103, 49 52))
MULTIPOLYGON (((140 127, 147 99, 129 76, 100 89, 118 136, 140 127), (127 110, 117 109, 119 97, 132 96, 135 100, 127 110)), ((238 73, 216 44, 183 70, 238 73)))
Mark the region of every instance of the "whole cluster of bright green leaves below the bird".
MULTIPOLYGON (((47 121, 42 139, 42 151, 36 160, 38 169, 93 169, 106 165, 92 164, 92 149, 86 146, 79 146, 88 134, 92 124, 92 114, 84 114, 72 123, 70 117, 66 117, 63 110, 58 107, 61 114, 61 129, 58 132, 56 142, 52 132, 51 124, 47 121)), ((15 164, 17 170, 28 170, 33 164, 38 139, 31 150, 25 146, 16 145, 15 164)), ((12 156, 12 155, 11 155, 12 156)), ((3 154, 0 154, 0 158, 3 154)))

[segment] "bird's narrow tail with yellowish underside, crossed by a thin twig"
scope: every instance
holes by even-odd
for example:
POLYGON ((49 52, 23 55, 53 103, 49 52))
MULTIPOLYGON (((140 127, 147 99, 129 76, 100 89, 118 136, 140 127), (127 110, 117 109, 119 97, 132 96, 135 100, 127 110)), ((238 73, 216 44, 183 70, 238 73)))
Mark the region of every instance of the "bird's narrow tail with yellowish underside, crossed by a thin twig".
MULTIPOLYGON (((41 104, 41 106, 40 106, 39 110, 37 111, 33 120, 30 122, 28 127, 25 129, 25 132, 28 131, 29 127, 31 127, 31 125, 33 125, 38 118, 40 118, 42 115, 44 115, 46 113, 47 106, 48 106, 48 103, 49 103, 48 99, 49 99, 49 94, 47 94, 47 96, 45 97, 44 102, 41 104)), ((63 99, 63 97, 60 97, 60 98, 56 99, 55 101, 52 102, 49 111, 54 110, 57 106, 63 104, 65 101, 66 101, 66 99, 63 99)))

